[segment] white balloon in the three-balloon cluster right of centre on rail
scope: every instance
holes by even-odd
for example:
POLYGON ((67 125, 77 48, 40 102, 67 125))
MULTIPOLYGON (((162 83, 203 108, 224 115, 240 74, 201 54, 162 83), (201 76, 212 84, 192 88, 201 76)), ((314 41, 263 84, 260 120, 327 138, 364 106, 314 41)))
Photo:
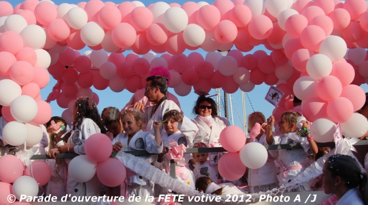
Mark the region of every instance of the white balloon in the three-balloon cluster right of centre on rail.
POLYGON ((241 162, 250 169, 263 167, 268 158, 267 149, 263 144, 250 142, 243 146, 239 151, 241 162), (255 157, 257 156, 257 157, 255 157))

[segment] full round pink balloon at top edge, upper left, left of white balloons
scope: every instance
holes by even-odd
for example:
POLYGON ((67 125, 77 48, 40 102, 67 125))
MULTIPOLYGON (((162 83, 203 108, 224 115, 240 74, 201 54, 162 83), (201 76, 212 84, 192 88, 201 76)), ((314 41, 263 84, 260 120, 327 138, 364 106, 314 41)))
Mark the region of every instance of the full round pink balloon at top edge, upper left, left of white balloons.
POLYGON ((34 15, 38 23, 48 26, 57 17, 56 8, 49 2, 40 2, 34 9, 34 15))

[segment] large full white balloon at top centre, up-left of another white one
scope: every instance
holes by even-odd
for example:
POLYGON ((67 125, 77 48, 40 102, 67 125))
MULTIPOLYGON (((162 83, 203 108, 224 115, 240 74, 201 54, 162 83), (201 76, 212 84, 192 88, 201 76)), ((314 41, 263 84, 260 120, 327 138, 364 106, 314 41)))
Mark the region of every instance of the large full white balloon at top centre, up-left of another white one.
POLYGON ((171 7, 164 14, 164 25, 168 31, 179 33, 188 25, 187 12, 179 7, 171 7))

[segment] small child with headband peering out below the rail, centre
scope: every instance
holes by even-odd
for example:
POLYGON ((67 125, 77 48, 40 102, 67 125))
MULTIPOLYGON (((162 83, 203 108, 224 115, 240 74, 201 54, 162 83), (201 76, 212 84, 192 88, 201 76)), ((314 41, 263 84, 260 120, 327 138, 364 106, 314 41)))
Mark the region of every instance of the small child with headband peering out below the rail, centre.
MULTIPOLYGON (((207 147, 203 142, 197 142, 194 144, 193 148, 207 147)), ((207 161, 208 153, 193 153, 193 158, 196 160, 197 164, 194 165, 194 177, 196 180, 200 177, 209 177, 213 182, 217 182, 217 170, 216 168, 210 166, 207 161)))

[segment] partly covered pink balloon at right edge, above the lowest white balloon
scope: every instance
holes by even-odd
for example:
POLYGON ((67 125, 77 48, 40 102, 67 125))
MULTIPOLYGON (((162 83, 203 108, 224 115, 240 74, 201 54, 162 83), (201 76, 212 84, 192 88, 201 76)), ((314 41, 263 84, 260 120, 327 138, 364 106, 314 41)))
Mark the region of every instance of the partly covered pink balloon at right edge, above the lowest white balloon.
POLYGON ((365 103, 364 90, 357 85, 347 85, 342 88, 340 97, 345 97, 353 104, 353 111, 358 111, 365 103))

